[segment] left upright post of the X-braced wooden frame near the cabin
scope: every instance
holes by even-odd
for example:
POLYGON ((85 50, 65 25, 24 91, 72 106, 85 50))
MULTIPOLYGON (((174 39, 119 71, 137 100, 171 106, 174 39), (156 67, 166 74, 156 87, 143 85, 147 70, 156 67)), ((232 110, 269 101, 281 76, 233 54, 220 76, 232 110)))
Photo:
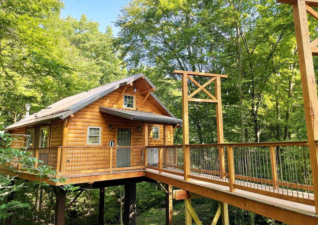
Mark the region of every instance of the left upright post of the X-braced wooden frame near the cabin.
POLYGON ((190 172, 190 152, 189 147, 189 109, 188 109, 188 75, 182 74, 182 122, 183 122, 183 174, 188 180, 190 172))

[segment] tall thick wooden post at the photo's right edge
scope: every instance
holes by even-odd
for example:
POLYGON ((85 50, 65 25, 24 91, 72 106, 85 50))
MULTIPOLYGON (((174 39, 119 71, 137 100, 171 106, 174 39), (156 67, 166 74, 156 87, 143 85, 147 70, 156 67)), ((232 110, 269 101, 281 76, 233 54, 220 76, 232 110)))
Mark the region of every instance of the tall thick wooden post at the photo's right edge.
POLYGON ((293 14, 315 194, 315 208, 316 214, 318 214, 318 146, 315 142, 315 140, 318 140, 318 98, 305 1, 298 0, 293 4, 293 14))

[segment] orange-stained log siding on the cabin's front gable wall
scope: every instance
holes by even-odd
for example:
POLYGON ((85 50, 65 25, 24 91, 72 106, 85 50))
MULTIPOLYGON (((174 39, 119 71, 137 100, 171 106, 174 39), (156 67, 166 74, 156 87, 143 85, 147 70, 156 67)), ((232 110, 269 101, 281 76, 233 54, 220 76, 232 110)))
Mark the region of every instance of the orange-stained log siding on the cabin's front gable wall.
MULTIPOLYGON (((117 90, 101 97, 95 102, 89 104, 88 106, 80 109, 76 113, 74 113, 74 117, 71 118, 71 122, 68 126, 68 135, 67 135, 67 145, 68 146, 92 146, 87 145, 87 128, 89 126, 93 127, 101 127, 101 144, 99 146, 108 146, 108 141, 114 140, 115 145, 117 144, 116 140, 116 131, 117 128, 129 128, 131 129, 131 137, 132 137, 132 146, 141 146, 143 145, 143 122, 133 121, 129 119, 124 119, 118 116, 113 116, 106 113, 100 113, 99 107, 113 107, 117 109, 123 108, 123 99, 121 99, 118 104, 116 104, 119 96, 121 95, 124 87, 118 88, 117 90), (112 130, 109 130, 108 125, 112 125, 112 130), (137 130, 137 127, 141 127, 141 131, 137 130)), ((136 100, 136 109, 140 111, 154 112, 162 115, 159 109, 157 109, 148 99, 144 102, 142 107, 140 107, 141 103, 144 100, 144 96, 139 94, 137 91, 136 94, 133 93, 133 86, 130 86, 126 89, 125 94, 135 95, 136 100)), ((134 109, 133 109, 134 110, 134 109)), ((162 145, 163 144, 163 126, 160 126, 160 140, 152 140, 152 124, 148 126, 148 144, 149 145, 162 145)), ((53 130, 52 130, 53 131, 53 130)), ((169 144, 173 144, 172 137, 172 126, 168 128, 168 141, 169 144)), ((94 154, 94 153, 93 153, 94 154)), ((135 149, 131 152, 131 166, 140 165, 140 160, 142 157, 138 157, 142 154, 141 150, 135 149)), ((116 167, 117 162, 117 151, 113 149, 113 167, 116 167)), ((70 156, 72 160, 79 160, 81 164, 85 165, 87 154, 79 154, 77 157, 70 156)), ((109 160, 109 154, 107 153, 105 158, 103 158, 106 162, 109 160)), ((105 162, 102 162, 104 164, 105 162)), ((98 162, 93 163, 93 165, 99 167, 98 162)), ((89 165, 87 165, 89 166, 89 165)))

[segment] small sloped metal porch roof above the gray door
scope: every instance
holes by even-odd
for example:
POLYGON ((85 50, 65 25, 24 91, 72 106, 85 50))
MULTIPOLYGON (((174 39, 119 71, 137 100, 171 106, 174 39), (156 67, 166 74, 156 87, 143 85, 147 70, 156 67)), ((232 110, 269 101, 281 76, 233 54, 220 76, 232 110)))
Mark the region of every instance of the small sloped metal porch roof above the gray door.
POLYGON ((120 116, 131 120, 142 120, 148 122, 182 124, 181 119, 170 116, 163 116, 152 112, 136 111, 129 109, 116 109, 110 107, 100 106, 100 112, 108 113, 114 116, 120 116))

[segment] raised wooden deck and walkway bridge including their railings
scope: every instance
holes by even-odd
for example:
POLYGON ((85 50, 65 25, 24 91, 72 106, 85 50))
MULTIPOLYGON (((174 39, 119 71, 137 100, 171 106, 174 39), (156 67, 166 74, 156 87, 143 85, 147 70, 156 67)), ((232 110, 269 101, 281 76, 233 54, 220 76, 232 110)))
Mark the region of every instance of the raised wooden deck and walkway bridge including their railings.
POLYGON ((122 146, 118 148, 131 151, 131 163, 125 167, 112 159, 117 151, 114 148, 117 147, 33 149, 44 165, 52 166, 59 177, 66 178, 64 183, 40 179, 21 166, 16 170, 3 166, 0 172, 54 186, 97 185, 102 181, 144 177, 288 224, 318 225, 306 141, 189 144, 189 158, 183 155, 182 145, 122 146), (76 154, 85 154, 86 160, 76 158, 76 154))

